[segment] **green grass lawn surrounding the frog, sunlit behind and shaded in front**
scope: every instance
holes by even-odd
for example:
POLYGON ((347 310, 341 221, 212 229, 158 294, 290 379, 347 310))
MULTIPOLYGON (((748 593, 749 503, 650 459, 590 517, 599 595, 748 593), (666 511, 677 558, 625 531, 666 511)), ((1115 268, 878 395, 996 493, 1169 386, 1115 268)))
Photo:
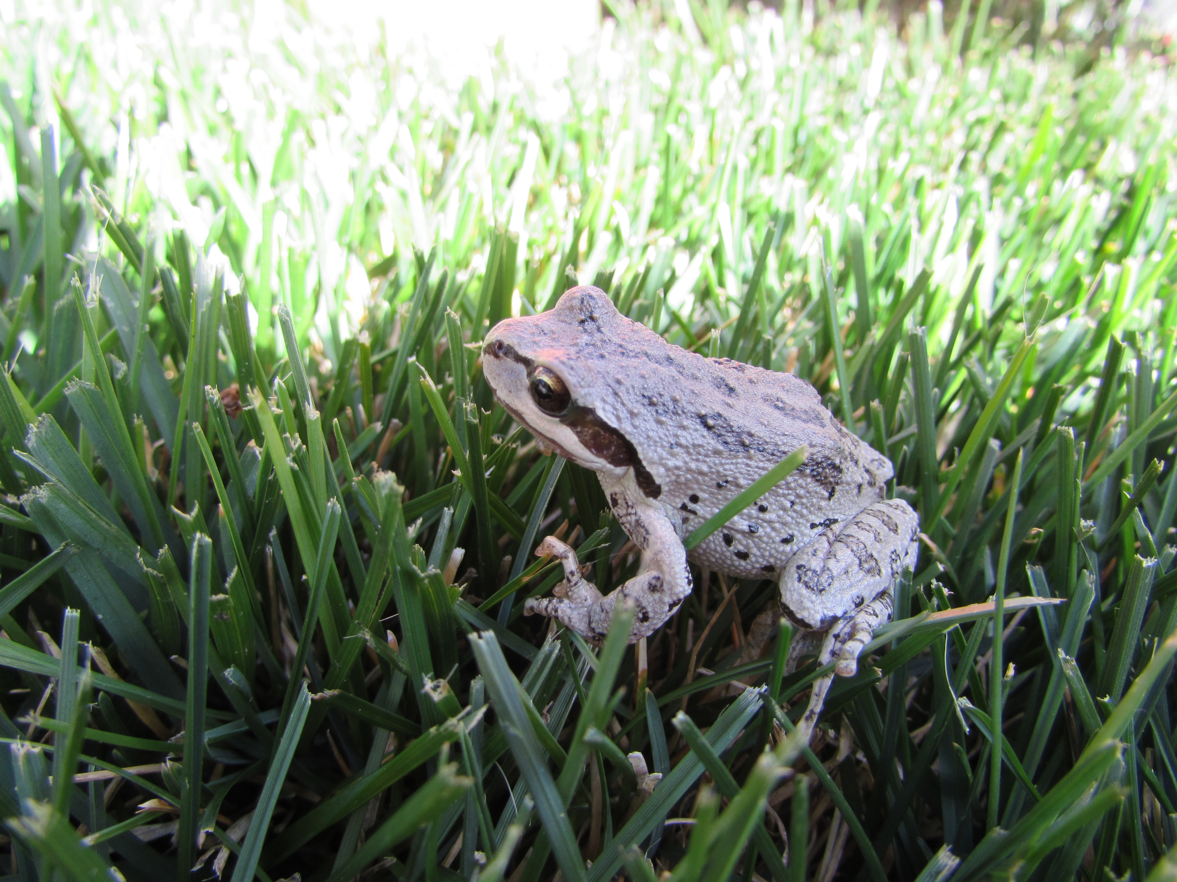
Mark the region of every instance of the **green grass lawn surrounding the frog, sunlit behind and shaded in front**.
POLYGON ((294 7, 4 22, 0 871, 1172 875, 1168 68, 612 8, 554 85, 294 7), (769 582, 641 652, 521 617, 545 535, 638 566, 477 360, 573 280, 806 377, 919 509, 810 747, 769 582))

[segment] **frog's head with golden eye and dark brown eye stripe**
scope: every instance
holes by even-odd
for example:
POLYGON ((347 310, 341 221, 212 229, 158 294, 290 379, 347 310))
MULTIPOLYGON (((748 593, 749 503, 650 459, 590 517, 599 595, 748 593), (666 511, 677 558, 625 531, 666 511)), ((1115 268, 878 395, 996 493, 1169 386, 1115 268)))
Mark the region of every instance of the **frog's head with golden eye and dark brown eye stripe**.
POLYGON ((617 476, 633 467, 643 492, 657 496, 660 487, 623 432, 627 412, 617 382, 632 353, 652 346, 666 343, 618 313, 600 288, 581 286, 554 309, 491 328, 483 375, 540 449, 617 476))

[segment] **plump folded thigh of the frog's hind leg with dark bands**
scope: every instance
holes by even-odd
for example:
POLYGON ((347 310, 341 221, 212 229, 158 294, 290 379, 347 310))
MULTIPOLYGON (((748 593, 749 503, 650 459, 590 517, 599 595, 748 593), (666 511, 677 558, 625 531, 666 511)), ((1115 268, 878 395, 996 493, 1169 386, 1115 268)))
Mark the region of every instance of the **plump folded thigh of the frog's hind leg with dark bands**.
POLYGON ((792 617, 830 629, 837 670, 857 670, 858 653, 891 617, 892 590, 916 563, 919 516, 902 500, 876 502, 827 527, 790 559, 780 601, 792 617))

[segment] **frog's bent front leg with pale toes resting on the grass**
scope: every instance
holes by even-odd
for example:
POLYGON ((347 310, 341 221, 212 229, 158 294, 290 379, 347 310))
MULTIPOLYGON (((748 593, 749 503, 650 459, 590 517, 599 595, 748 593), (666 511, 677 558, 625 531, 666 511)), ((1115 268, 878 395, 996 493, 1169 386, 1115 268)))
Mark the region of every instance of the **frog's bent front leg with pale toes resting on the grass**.
POLYGON ((679 608, 691 593, 691 570, 686 564, 686 549, 666 515, 654 506, 630 502, 629 494, 605 486, 605 481, 601 486, 625 532, 641 549, 641 573, 603 596, 597 586, 581 575, 576 552, 548 536, 536 554, 558 557, 564 564, 564 581, 552 590, 556 596, 531 597, 523 609, 525 615, 558 619, 577 634, 599 643, 609 633, 617 601, 631 600, 634 619, 630 642, 633 643, 653 634, 679 608))

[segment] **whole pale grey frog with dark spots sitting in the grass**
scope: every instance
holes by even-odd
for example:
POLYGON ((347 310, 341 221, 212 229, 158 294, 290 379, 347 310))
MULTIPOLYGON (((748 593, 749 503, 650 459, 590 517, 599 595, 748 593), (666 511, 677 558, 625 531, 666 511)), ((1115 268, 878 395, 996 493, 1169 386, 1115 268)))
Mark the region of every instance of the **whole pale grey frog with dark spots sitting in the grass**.
MULTIPOLYGON (((776 580, 782 614, 824 635, 819 662, 837 659, 838 674, 855 674, 871 633, 891 617, 896 580, 915 567, 919 517, 886 499, 891 463, 834 420, 812 386, 672 346, 593 287, 496 325, 483 370, 541 450, 597 473, 643 555, 640 574, 603 596, 574 552, 548 536, 536 553, 560 559, 565 580, 556 596, 528 600, 527 614, 600 641, 625 597, 637 641, 691 593, 690 557, 776 580), (683 537, 803 443, 809 454, 796 472, 686 552, 683 537)), ((830 682, 814 684, 806 731, 830 682)))

